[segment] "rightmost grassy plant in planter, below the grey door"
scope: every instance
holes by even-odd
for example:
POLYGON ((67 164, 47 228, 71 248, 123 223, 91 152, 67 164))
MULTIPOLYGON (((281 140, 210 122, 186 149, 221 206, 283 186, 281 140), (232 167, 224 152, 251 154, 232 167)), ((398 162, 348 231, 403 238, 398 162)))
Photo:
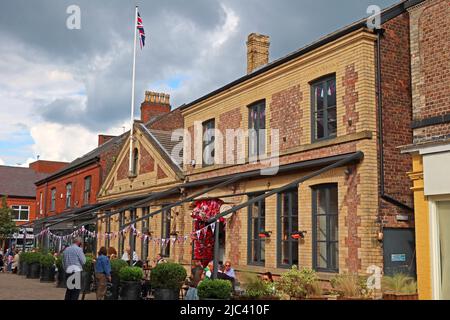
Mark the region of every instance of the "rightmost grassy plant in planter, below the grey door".
POLYGON ((384 276, 381 280, 384 300, 417 300, 417 282, 403 273, 384 276))

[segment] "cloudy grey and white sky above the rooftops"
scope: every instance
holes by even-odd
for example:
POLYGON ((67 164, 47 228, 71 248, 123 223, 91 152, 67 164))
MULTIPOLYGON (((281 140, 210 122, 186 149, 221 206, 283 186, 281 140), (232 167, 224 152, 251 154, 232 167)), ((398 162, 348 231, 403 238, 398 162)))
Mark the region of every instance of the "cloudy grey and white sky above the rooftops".
MULTIPOLYGON (((271 60, 399 0, 152 0, 138 2, 145 90, 188 103, 246 73, 246 37, 271 37, 271 60)), ((97 134, 129 128, 131 0, 0 0, 0 164, 72 161, 97 134), (81 9, 69 30, 67 7, 81 9)), ((137 113, 138 107, 136 107, 137 113)), ((137 114, 138 116, 138 114, 137 114)))

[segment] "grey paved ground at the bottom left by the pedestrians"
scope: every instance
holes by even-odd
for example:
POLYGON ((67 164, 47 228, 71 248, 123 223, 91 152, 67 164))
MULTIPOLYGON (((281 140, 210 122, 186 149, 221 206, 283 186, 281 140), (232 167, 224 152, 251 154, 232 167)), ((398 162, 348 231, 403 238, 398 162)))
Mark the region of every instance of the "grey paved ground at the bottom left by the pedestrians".
MULTIPOLYGON (((64 300, 65 292, 54 283, 0 272, 0 300, 64 300)), ((87 294, 85 300, 95 300, 95 293, 87 294)))

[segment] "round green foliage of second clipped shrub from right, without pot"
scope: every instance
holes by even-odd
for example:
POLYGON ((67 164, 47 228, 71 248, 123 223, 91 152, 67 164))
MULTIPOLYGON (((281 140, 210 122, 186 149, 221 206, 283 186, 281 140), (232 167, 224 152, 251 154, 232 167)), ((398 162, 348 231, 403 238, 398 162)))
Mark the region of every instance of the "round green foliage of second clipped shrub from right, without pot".
POLYGON ((160 263, 152 270, 151 284, 155 289, 179 290, 186 280, 186 269, 178 263, 160 263))

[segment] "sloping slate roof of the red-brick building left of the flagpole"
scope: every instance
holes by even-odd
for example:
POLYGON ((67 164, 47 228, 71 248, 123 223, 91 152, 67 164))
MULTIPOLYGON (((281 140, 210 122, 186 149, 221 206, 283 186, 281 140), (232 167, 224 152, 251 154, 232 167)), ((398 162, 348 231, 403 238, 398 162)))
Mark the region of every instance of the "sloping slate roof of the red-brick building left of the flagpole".
POLYGON ((85 166, 90 164, 91 162, 95 161, 98 157, 100 157, 101 154, 104 152, 107 152, 109 149, 111 149, 114 146, 117 146, 123 142, 124 139, 126 139, 129 135, 129 132, 125 132, 121 134, 120 136, 111 138, 101 146, 91 150, 90 152, 86 153, 85 155, 73 160, 70 162, 67 166, 62 168, 61 170, 56 171, 55 173, 52 173, 51 175, 44 177, 44 179, 41 179, 36 182, 37 185, 40 185, 42 183, 45 183, 47 181, 51 181, 53 179, 56 179, 62 175, 65 175, 69 172, 72 172, 79 167, 85 166))

